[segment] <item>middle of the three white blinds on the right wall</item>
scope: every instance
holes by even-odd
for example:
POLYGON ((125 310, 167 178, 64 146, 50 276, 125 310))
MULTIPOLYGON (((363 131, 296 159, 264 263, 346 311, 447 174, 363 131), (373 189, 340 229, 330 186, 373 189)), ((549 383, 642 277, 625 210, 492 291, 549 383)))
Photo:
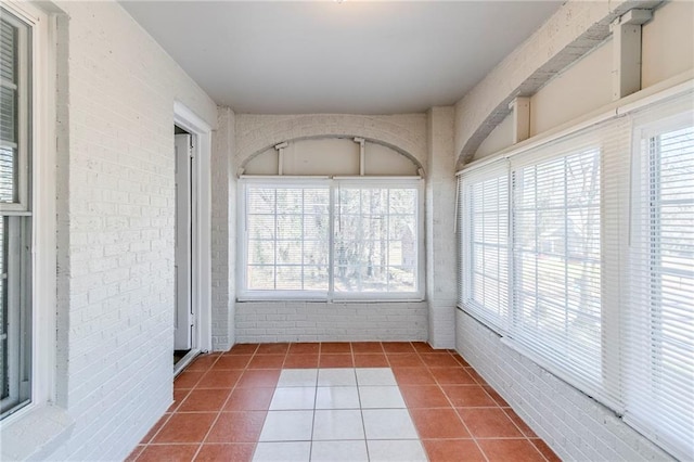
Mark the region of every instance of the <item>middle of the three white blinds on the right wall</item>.
POLYGON ((603 264, 618 265, 605 244, 619 240, 612 223, 625 182, 605 179, 603 167, 629 152, 629 139, 615 118, 511 158, 510 342, 609 406, 618 401, 617 336, 605 320, 620 283, 603 264))

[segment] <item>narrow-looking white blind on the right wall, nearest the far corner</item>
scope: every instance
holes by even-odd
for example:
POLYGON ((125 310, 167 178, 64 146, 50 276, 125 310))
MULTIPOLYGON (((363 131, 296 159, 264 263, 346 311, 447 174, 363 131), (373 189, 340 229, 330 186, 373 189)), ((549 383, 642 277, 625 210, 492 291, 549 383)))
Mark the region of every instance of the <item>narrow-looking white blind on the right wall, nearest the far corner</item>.
POLYGON ((499 162, 463 175, 459 188, 461 305, 496 326, 509 322, 509 169, 499 162))

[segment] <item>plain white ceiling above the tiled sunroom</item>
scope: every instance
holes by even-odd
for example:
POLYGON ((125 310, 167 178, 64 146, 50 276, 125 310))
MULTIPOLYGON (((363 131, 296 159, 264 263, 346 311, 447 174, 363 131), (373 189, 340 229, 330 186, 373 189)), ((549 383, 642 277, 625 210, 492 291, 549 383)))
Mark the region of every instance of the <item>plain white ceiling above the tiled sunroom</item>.
POLYGON ((560 1, 124 1, 220 105, 397 114, 450 105, 560 1))

